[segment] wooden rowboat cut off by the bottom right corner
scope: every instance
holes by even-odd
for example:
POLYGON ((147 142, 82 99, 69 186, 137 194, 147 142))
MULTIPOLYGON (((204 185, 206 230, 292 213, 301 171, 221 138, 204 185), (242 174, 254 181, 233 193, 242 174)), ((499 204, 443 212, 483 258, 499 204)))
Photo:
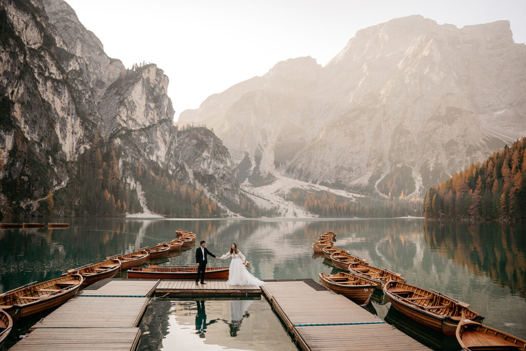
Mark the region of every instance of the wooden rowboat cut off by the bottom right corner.
POLYGON ((526 341, 487 325, 462 318, 456 330, 460 346, 471 350, 526 350, 526 341))

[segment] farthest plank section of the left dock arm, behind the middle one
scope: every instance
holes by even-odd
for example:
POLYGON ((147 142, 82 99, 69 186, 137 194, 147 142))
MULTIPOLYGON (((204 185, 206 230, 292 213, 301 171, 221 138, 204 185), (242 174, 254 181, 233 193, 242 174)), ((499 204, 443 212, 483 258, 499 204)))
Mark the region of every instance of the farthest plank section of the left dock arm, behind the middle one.
POLYGON ((98 289, 84 289, 75 296, 148 297, 154 293, 159 282, 153 279, 108 280, 98 289))

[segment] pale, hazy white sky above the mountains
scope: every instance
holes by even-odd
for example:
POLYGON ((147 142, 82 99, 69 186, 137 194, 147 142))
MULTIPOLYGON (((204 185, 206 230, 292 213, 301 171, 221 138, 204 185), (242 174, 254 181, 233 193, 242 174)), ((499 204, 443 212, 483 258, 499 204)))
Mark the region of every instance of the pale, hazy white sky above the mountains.
POLYGON ((66 0, 126 67, 156 63, 170 78, 175 119, 214 93, 264 75, 279 61, 325 65, 362 28, 420 14, 439 24, 510 21, 526 42, 526 0, 66 0))

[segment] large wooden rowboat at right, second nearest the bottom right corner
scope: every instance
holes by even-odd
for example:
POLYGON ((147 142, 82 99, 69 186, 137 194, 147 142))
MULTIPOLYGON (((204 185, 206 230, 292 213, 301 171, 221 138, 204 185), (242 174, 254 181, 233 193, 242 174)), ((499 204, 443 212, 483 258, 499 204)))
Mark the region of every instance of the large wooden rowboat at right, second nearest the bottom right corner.
POLYGON ((453 335, 456 332, 462 313, 469 320, 484 319, 484 316, 469 309, 469 304, 434 290, 424 290, 391 280, 383 286, 383 293, 389 297, 391 305, 399 312, 446 335, 453 335))

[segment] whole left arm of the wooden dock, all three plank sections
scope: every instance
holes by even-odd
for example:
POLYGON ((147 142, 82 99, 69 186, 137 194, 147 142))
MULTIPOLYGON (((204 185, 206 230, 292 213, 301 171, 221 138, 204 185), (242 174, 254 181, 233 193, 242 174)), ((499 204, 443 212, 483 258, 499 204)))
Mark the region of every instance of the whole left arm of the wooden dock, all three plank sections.
POLYGON ((135 350, 138 325, 159 280, 104 279, 80 291, 12 350, 135 350))

